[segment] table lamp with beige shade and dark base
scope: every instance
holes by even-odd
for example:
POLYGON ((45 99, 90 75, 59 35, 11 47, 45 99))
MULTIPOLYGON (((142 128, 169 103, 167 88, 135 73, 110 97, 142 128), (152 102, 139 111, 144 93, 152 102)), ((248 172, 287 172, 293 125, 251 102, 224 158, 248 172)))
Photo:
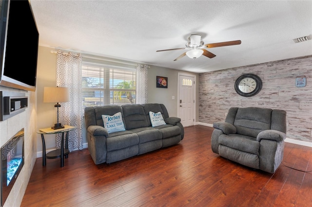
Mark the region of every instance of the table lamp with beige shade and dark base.
POLYGON ((67 87, 44 87, 43 103, 57 103, 54 107, 58 108, 57 123, 52 126, 52 129, 62 129, 61 123, 59 123, 59 107, 62 102, 69 102, 69 88, 67 87))

